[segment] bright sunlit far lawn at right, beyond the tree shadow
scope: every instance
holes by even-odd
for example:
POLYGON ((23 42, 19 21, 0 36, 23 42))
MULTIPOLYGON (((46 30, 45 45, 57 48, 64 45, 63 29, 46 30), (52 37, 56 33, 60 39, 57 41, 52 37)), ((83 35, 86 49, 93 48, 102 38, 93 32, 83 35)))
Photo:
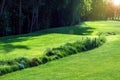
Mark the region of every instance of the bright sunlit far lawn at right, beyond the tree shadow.
POLYGON ((93 34, 97 34, 98 32, 120 34, 120 21, 89 21, 85 22, 85 24, 94 28, 93 34))

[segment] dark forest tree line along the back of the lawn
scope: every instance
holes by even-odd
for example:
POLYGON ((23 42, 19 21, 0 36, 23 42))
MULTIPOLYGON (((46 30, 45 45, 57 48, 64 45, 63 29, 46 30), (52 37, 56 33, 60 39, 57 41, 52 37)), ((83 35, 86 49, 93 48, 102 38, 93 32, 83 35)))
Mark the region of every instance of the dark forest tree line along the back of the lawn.
POLYGON ((104 0, 0 0, 0 36, 116 19, 119 8, 104 0))

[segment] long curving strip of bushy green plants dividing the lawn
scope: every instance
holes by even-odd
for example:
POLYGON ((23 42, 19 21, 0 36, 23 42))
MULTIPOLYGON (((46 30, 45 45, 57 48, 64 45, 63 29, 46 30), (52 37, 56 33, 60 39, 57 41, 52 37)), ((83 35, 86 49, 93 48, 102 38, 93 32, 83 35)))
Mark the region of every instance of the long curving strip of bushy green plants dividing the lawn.
POLYGON ((103 36, 95 38, 82 38, 80 41, 74 43, 67 43, 63 46, 47 49, 45 55, 39 58, 28 59, 25 57, 17 58, 11 61, 0 61, 0 75, 4 75, 17 70, 22 70, 28 67, 34 67, 41 64, 45 64, 49 61, 63 58, 68 55, 77 54, 83 51, 88 51, 96 47, 101 46, 106 42, 106 38, 103 36))

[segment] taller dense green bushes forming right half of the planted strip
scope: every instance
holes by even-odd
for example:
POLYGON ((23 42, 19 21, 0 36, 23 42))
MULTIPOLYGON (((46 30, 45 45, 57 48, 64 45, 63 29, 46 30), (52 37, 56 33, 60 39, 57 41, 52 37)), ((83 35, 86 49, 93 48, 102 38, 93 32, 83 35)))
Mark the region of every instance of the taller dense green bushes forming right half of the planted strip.
POLYGON ((99 36, 95 38, 83 38, 80 41, 76 41, 74 43, 67 43, 64 46, 49 49, 46 51, 46 56, 51 59, 59 59, 64 56, 76 54, 83 51, 88 51, 93 48, 101 46, 106 42, 106 38, 104 36, 99 36))

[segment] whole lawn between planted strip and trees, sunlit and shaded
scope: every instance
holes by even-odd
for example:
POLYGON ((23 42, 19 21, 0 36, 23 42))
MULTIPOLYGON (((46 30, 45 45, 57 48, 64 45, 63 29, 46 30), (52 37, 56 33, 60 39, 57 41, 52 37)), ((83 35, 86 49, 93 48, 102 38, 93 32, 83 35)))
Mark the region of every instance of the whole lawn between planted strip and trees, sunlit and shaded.
POLYGON ((83 22, 75 26, 3 37, 0 38, 0 60, 40 56, 47 48, 58 47, 68 42, 80 40, 81 36, 93 36, 99 32, 120 34, 119 24, 118 21, 83 22))

